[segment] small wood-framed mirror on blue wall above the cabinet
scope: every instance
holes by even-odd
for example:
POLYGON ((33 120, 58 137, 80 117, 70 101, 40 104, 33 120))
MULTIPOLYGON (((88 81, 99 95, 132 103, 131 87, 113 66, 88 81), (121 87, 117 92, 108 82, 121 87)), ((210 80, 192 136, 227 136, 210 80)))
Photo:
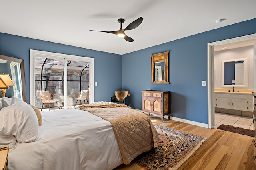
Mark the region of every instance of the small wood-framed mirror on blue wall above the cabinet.
POLYGON ((168 53, 151 56, 151 84, 169 84, 168 53))

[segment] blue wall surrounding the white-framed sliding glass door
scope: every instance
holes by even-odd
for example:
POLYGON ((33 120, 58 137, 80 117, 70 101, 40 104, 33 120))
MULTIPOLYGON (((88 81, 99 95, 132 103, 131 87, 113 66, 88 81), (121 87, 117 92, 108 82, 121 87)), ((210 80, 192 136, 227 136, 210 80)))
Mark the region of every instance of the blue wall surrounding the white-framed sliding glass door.
MULTIPOLYGON (((24 60, 28 103, 30 103, 30 49, 94 58, 94 81, 98 82, 98 86, 94 86, 95 101, 109 101, 110 96, 113 96, 116 90, 121 90, 122 88, 121 71, 116 71, 122 70, 120 64, 122 60, 121 55, 20 37, 6 33, 0 33, 0 39, 1 55, 24 60)), ((0 72, 3 71, 4 70, 0 68, 0 72)))

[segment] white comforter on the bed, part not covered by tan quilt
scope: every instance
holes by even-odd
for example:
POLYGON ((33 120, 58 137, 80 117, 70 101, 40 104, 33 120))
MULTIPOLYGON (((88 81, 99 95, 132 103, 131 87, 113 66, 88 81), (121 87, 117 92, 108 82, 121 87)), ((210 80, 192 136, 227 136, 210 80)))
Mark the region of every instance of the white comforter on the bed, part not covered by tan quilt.
POLYGON ((111 170, 122 164, 110 122, 87 111, 42 112, 40 140, 18 143, 9 170, 111 170))

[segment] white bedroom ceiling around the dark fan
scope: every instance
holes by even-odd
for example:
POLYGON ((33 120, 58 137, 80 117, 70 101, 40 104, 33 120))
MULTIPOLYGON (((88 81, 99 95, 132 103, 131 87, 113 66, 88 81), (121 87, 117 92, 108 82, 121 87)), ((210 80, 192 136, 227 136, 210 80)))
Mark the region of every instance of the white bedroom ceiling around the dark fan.
POLYGON ((76 47, 125 54, 256 18, 256 0, 1 0, 0 31, 76 47), (118 18, 134 42, 114 34, 118 18), (221 23, 215 20, 225 18, 221 23))

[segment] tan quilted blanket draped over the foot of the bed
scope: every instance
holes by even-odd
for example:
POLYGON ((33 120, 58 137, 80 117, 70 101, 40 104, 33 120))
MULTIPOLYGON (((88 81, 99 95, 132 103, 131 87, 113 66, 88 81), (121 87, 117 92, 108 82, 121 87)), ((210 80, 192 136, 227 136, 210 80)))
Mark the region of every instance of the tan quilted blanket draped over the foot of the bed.
MULTIPOLYGON (((106 106, 106 104, 103 105, 106 106)), ((148 116, 123 106, 106 108, 95 108, 96 106, 94 106, 82 109, 81 105, 80 108, 112 124, 123 162, 129 164, 143 152, 152 148, 155 151, 158 150, 158 133, 148 116)))

